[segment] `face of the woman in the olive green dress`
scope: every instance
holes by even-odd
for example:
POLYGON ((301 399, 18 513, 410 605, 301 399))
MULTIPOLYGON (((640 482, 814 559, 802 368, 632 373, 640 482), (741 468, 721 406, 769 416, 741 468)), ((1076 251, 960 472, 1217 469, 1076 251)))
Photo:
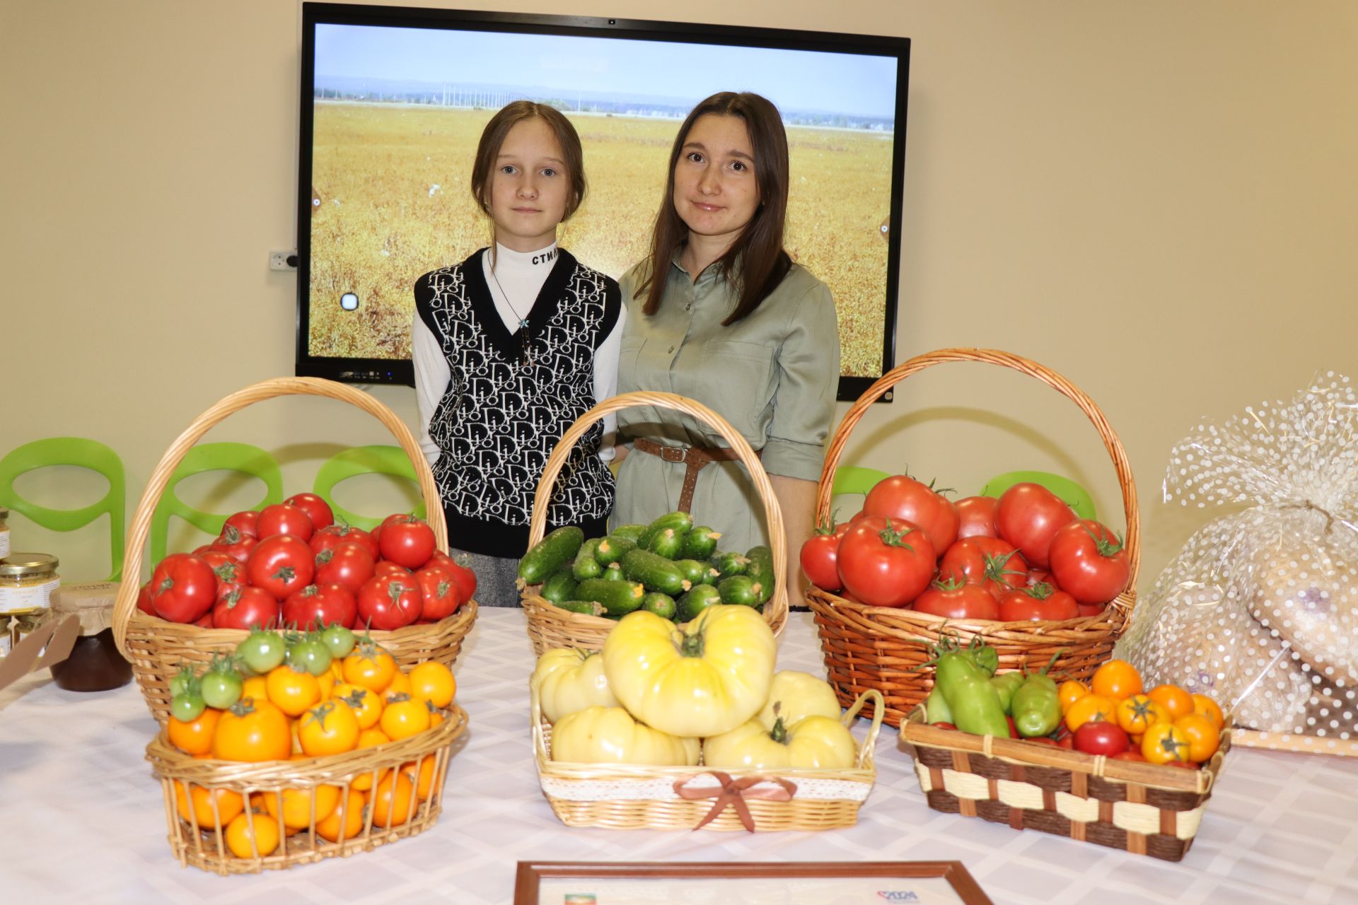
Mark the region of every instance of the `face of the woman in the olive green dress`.
POLYGON ((729 248, 759 208, 750 130, 740 117, 706 114, 689 129, 675 164, 675 210, 690 233, 729 248))

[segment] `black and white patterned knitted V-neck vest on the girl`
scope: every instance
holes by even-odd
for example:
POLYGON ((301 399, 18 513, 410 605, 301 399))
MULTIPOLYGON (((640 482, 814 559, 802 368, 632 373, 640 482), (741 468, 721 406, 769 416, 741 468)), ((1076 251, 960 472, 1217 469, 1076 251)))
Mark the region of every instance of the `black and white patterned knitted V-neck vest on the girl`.
MULTIPOLYGON (((448 358, 448 388, 429 437, 441 450, 433 475, 454 547, 520 556, 547 456, 595 404, 593 355, 618 323, 618 284, 558 251, 528 315, 528 345, 511 334, 486 285, 481 256, 416 282, 416 311, 448 358)), ((603 425, 570 450, 553 486, 549 531, 583 525, 602 533, 614 483, 599 460, 603 425)))

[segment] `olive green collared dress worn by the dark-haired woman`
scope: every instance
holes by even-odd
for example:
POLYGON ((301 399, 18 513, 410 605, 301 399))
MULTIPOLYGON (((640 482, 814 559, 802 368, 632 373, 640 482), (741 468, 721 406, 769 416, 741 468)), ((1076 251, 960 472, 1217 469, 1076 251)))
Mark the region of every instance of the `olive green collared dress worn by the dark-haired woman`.
MULTIPOLYGON (((659 391, 695 399, 762 450, 770 475, 818 480, 839 384, 839 331, 830 289, 793 265, 752 313, 722 326, 737 296, 717 267, 694 282, 678 262, 655 315, 634 299, 645 262, 622 277, 629 307, 618 362, 618 392, 659 391)), ((618 412, 619 440, 727 446, 706 423, 669 408, 618 412)), ((618 471, 612 525, 649 522, 678 507, 684 465, 633 449, 618 471)), ((717 461, 698 474, 693 517, 722 533, 721 550, 769 543, 763 503, 746 467, 717 461)), ((789 551, 796 556, 796 551, 789 551)))

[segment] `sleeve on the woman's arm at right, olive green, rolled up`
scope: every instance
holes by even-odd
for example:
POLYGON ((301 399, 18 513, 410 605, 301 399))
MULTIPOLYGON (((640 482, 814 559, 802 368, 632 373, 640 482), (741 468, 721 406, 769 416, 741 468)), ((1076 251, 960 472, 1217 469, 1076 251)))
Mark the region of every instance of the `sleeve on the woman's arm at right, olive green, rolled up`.
POLYGON ((811 286, 793 309, 777 368, 765 471, 819 480, 839 387, 839 327, 824 284, 811 286))

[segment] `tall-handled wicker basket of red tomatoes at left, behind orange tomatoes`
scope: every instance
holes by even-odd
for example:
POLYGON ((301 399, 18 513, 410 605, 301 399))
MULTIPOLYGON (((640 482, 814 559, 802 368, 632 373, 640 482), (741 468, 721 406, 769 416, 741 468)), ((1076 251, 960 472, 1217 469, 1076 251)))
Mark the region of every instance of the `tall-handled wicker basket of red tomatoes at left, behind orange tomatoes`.
MULTIPOLYGON (((156 465, 147 482, 147 488, 141 494, 141 502, 137 503, 137 510, 132 516, 132 528, 128 532, 126 555, 122 564, 125 581, 118 588, 118 598, 114 604, 113 636, 118 650, 132 662, 132 673, 141 687, 141 695, 147 699, 151 714, 162 725, 170 718, 170 678, 179 670, 179 666, 183 663, 205 665, 215 653, 235 650, 247 632, 235 628, 200 628, 198 625, 171 623, 137 609, 137 575, 141 574, 141 555, 151 531, 151 518, 175 467, 209 429, 232 412, 277 396, 338 399, 357 406, 380 421, 410 456, 410 461, 416 467, 420 491, 428 503, 428 521, 429 526, 433 528, 435 541, 439 550, 448 551, 448 528, 443 518, 443 506, 439 503, 439 487, 433 480, 433 472, 429 471, 429 463, 420 452, 420 445, 410 434, 410 429, 394 411, 365 392, 314 377, 265 380, 231 393, 198 415, 166 450, 160 464, 156 465)), ((437 659, 451 666, 462 650, 462 639, 471 630, 475 617, 477 604, 467 601, 458 608, 458 612, 437 623, 406 625, 390 632, 373 631, 372 638, 390 651, 402 668, 409 669, 425 659, 437 659)))

